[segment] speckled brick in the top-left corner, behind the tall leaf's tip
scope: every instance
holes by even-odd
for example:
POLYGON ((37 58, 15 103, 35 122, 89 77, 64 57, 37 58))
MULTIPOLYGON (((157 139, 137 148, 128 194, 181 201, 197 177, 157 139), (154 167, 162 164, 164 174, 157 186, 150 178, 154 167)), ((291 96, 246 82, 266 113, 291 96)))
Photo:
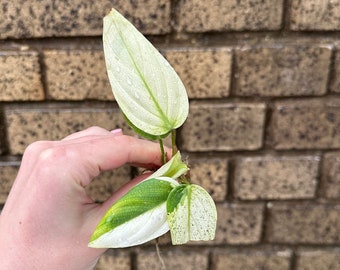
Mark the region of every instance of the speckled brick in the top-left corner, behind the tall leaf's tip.
POLYGON ((145 34, 170 31, 170 1, 2 1, 0 38, 99 36, 103 17, 116 8, 145 34))

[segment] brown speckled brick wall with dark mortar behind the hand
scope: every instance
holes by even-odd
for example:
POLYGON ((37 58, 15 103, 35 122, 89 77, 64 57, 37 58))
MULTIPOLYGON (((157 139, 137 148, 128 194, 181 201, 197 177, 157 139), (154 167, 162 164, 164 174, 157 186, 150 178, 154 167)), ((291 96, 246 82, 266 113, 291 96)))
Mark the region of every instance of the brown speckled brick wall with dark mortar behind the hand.
MULTIPOLYGON (((116 7, 182 77, 192 179, 217 203, 216 239, 171 246, 168 269, 340 269, 340 1, 102 0, 0 4, 0 204, 24 149, 122 127, 101 44, 116 7)), ((104 200, 131 168, 89 192, 104 200)), ((97 269, 158 269, 153 244, 97 269)))

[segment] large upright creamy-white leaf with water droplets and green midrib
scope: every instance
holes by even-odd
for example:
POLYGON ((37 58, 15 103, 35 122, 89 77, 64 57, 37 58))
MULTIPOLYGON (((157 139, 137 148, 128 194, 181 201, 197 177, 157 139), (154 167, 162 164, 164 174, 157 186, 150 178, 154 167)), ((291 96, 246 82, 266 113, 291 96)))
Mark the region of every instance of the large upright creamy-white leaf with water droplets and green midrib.
POLYGON ((104 18, 103 44, 112 91, 132 128, 164 138, 188 116, 185 87, 158 50, 120 13, 104 18))

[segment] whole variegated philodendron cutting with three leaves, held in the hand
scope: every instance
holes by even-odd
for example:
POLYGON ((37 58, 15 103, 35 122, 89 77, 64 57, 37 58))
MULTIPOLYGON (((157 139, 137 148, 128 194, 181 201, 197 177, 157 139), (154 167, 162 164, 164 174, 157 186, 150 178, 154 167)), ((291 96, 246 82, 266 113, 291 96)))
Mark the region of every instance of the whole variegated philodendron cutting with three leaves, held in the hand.
POLYGON ((140 136, 158 140, 163 166, 107 211, 89 246, 130 247, 170 230, 174 245, 215 237, 217 212, 210 195, 191 184, 175 131, 186 120, 185 87, 159 51, 121 14, 104 18, 103 44, 107 73, 126 121, 140 136), (162 139, 172 135, 173 157, 167 161, 162 139))

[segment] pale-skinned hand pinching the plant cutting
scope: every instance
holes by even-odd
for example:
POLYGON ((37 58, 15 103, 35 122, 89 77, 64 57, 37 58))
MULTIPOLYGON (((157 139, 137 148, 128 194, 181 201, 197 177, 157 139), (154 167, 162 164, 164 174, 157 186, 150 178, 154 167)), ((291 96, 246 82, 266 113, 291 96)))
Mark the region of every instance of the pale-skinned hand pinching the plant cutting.
POLYGON ((105 252, 87 247, 97 223, 146 176, 102 204, 84 187, 100 172, 124 164, 161 166, 159 145, 99 127, 31 144, 0 215, 0 269, 93 269, 105 252))

